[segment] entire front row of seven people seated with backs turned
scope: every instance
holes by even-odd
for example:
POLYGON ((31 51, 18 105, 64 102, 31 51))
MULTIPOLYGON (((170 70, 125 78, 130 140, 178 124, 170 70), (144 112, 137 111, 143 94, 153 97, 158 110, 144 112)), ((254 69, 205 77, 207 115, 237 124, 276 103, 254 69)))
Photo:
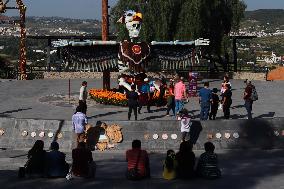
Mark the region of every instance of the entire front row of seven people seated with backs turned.
MULTIPOLYGON (((183 141, 177 153, 174 150, 168 150, 161 164, 163 167, 161 176, 166 180, 221 177, 213 143, 204 144, 205 152, 201 154, 198 161, 192 148, 193 145, 189 141, 183 141)), ((149 155, 146 150, 141 149, 140 140, 133 140, 132 148, 126 151, 126 161, 127 179, 151 178, 149 155)), ((28 161, 24 166, 25 174, 21 177, 66 178, 67 180, 77 177, 95 178, 96 167, 92 152, 84 142, 79 142, 77 148, 72 150, 72 163, 69 165, 66 162, 66 155, 59 151, 57 142, 52 142, 50 150, 45 151, 44 142, 37 140, 28 152, 28 161)))

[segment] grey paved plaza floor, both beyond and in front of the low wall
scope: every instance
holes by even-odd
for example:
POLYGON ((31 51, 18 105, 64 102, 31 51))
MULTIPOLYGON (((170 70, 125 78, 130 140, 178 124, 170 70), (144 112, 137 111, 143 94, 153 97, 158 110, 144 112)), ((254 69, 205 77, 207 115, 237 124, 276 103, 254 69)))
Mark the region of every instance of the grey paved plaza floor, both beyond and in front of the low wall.
MULTIPOLYGON (((0 117, 59 119, 71 120, 75 111, 76 98, 83 79, 71 80, 71 104, 68 101, 68 80, 0 80, 0 117), (64 100, 62 100, 64 99, 64 100)), ((102 80, 87 80, 88 89, 101 88, 102 80)), ((222 80, 208 80, 210 88, 220 88, 222 80)), ((232 119, 246 117, 242 94, 244 82, 232 80, 233 104, 232 119)), ((255 81, 259 100, 254 103, 253 116, 258 118, 284 117, 284 82, 255 81)), ((116 81, 112 80, 112 87, 116 81)), ((199 86, 202 86, 200 84, 199 86)), ((91 123, 98 120, 127 120, 125 107, 105 106, 88 101, 87 116, 91 123)), ((191 98, 185 107, 199 119, 197 98, 191 98)), ((165 117, 165 108, 152 107, 153 113, 144 113, 143 108, 139 120, 173 120, 165 117)), ((222 112, 217 117, 221 119, 222 112)), ((143 146, 143 144, 142 144, 143 146)), ((1 146, 0 146, 1 147, 1 146)), ((194 151, 196 157, 202 151, 194 151)), ((151 174, 149 180, 131 182, 125 179, 126 162, 124 151, 94 152, 97 162, 95 180, 75 179, 18 179, 17 169, 26 162, 26 151, 13 149, 0 150, 0 188, 2 189, 45 189, 45 188, 230 188, 230 189, 284 189, 284 152, 283 150, 219 150, 219 163, 223 176, 218 180, 194 179, 190 181, 162 179, 162 161, 165 152, 150 153, 151 174)), ((67 161, 71 162, 71 154, 67 153, 67 161)))

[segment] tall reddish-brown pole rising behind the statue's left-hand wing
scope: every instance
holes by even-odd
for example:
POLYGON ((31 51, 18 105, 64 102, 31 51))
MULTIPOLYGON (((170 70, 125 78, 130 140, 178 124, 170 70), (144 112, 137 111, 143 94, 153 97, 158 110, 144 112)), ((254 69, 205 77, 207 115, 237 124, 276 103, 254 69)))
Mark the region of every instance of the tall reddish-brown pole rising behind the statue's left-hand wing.
MULTIPOLYGON (((108 19, 108 0, 102 0, 102 40, 108 41, 109 19, 108 19)), ((110 70, 103 71, 103 88, 110 89, 110 70)))

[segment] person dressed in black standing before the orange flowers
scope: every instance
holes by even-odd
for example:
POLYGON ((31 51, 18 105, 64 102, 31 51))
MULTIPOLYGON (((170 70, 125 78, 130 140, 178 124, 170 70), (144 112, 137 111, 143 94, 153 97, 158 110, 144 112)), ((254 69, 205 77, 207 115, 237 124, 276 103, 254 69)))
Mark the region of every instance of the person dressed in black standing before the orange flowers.
POLYGON ((134 111, 135 120, 137 120, 138 93, 135 92, 135 85, 131 86, 131 91, 126 95, 128 99, 128 120, 131 118, 132 110, 134 111))

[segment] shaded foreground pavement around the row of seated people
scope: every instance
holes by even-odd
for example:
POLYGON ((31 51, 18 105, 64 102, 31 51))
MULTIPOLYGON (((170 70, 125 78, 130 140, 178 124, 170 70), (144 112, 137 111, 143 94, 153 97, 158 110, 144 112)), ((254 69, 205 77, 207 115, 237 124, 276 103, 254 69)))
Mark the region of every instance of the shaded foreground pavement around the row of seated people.
MULTIPOLYGON (((164 154, 150 154, 151 179, 132 182, 124 177, 126 162, 124 153, 96 152, 97 178, 95 180, 75 179, 17 179, 17 168, 26 161, 22 151, 0 151, 0 185, 3 189, 152 189, 152 188, 230 188, 230 189, 281 189, 284 188, 284 153, 282 151, 217 151, 222 169, 218 180, 194 179, 190 181, 162 179, 164 154), (241 155, 240 155, 241 154, 241 155)), ((199 157, 201 151, 195 151, 199 157)), ((70 162, 70 154, 67 154, 70 162)))

